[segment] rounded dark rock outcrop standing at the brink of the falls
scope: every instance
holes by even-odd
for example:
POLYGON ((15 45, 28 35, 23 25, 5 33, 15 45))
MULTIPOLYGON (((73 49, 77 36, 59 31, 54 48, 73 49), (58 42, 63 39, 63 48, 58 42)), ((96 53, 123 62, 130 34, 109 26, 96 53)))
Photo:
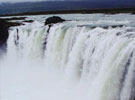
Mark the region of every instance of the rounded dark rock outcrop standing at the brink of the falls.
POLYGON ((62 19, 58 16, 53 16, 53 17, 49 17, 49 18, 46 19, 45 25, 61 23, 61 22, 64 22, 64 21, 65 21, 64 19, 62 19))

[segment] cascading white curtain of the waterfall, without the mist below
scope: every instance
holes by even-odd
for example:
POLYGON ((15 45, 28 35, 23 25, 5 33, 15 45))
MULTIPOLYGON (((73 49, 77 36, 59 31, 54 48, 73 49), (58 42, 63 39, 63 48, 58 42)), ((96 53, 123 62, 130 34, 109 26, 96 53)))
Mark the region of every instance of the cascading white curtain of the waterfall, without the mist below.
POLYGON ((53 25, 49 33, 47 30, 48 26, 39 22, 11 29, 7 59, 39 61, 42 67, 59 70, 66 81, 83 87, 86 98, 78 100, 135 99, 132 27, 93 29, 64 22, 53 25))

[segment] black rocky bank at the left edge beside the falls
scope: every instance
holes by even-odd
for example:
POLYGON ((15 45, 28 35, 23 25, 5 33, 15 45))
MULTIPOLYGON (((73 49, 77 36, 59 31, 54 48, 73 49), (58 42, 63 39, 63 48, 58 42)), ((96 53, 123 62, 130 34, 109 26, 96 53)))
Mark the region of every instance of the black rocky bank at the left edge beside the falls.
POLYGON ((20 26, 20 25, 23 25, 23 24, 17 23, 17 22, 8 22, 5 19, 0 19, 0 47, 3 44, 6 44, 6 41, 9 36, 9 33, 8 33, 9 28, 13 26, 20 26))

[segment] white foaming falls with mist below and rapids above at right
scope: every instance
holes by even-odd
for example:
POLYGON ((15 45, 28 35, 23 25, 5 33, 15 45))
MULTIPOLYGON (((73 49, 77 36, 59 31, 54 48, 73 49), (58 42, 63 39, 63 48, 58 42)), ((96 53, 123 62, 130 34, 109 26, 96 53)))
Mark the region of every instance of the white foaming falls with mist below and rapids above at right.
POLYGON ((0 60, 1 100, 133 100, 135 24, 131 15, 119 19, 125 15, 89 15, 55 24, 49 34, 39 20, 10 30, 0 60))

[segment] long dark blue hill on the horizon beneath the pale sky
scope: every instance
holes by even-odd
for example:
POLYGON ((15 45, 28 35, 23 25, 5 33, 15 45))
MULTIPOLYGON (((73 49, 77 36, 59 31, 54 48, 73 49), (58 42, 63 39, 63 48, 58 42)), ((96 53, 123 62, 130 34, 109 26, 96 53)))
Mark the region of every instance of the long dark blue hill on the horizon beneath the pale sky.
POLYGON ((135 7, 135 0, 55 1, 0 4, 0 15, 24 12, 135 7))

